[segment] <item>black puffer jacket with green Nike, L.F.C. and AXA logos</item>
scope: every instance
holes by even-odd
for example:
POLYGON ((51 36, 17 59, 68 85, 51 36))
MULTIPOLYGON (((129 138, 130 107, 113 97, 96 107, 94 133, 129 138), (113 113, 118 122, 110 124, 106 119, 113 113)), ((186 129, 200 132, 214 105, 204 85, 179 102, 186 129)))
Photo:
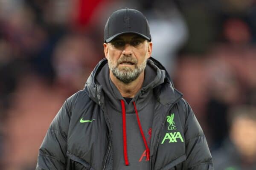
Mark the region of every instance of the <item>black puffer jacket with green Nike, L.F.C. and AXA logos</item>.
MULTIPOLYGON (((165 70, 155 59, 148 61, 165 70)), ((102 59, 85 88, 65 102, 40 147, 36 170, 112 170, 111 125, 105 113, 104 92, 95 81, 107 64, 102 59), (93 120, 79 123, 81 118, 93 120)), ((150 145, 152 170, 213 170, 212 157, 189 104, 169 75, 153 89, 154 109, 150 145)))

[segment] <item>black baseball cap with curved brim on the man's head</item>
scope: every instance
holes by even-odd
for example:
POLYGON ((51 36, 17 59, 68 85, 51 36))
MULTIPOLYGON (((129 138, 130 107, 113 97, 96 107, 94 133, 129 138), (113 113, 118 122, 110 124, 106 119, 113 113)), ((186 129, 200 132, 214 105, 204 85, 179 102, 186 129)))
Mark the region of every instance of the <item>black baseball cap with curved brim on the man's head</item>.
POLYGON ((119 9, 108 18, 104 29, 104 42, 111 42, 119 35, 126 33, 138 34, 151 41, 148 21, 146 17, 136 9, 119 9))

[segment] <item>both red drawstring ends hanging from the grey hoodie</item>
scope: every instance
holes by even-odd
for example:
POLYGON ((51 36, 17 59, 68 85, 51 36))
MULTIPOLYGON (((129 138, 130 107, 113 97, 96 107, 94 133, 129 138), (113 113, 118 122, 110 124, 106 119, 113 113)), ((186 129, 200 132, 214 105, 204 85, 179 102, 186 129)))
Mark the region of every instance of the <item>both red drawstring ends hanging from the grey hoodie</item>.
MULTIPOLYGON (((136 113, 136 116, 137 116, 137 122, 138 122, 138 125, 139 125, 139 128, 140 128, 140 133, 141 133, 141 136, 143 138, 143 142, 144 142, 145 147, 146 147, 146 161, 149 161, 150 160, 150 150, 148 148, 148 144, 147 144, 145 135, 143 133, 143 130, 142 130, 142 127, 141 127, 141 124, 140 124, 140 118, 139 118, 139 115, 138 115, 138 111, 137 111, 135 102, 133 102, 133 104, 134 104, 134 110, 135 110, 135 113, 136 113)), ((128 166, 129 161, 128 161, 128 154, 127 154, 126 113, 125 113, 125 102, 123 100, 121 100, 121 105, 122 105, 122 125, 123 125, 122 129, 123 129, 124 159, 125 159, 125 165, 128 166)))

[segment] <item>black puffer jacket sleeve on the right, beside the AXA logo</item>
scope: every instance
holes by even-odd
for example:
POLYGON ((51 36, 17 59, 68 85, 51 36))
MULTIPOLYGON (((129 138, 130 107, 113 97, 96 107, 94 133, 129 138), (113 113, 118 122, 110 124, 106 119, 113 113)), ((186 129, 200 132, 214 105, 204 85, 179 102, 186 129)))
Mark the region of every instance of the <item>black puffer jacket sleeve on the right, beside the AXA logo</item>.
POLYGON ((184 102, 186 107, 184 137, 186 142, 187 169, 213 170, 212 156, 204 132, 191 107, 185 100, 184 102))

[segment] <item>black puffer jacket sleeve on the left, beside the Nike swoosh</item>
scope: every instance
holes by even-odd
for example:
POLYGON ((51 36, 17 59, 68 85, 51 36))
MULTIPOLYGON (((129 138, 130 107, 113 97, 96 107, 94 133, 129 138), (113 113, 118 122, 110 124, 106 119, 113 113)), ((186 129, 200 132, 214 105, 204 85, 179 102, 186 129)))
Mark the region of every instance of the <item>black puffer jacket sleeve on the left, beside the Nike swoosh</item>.
POLYGON ((53 119, 38 153, 36 170, 65 170, 70 109, 66 100, 53 119))

